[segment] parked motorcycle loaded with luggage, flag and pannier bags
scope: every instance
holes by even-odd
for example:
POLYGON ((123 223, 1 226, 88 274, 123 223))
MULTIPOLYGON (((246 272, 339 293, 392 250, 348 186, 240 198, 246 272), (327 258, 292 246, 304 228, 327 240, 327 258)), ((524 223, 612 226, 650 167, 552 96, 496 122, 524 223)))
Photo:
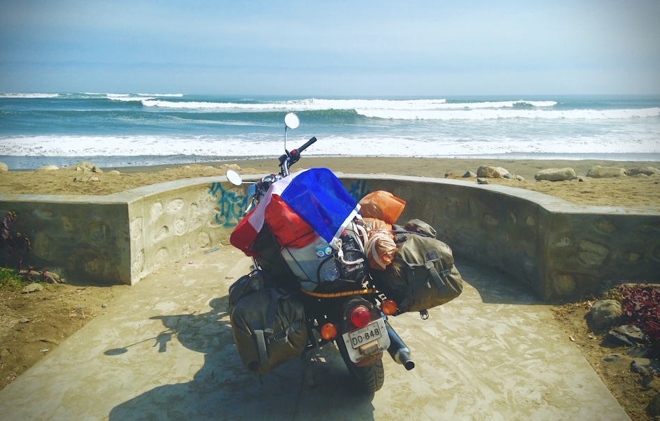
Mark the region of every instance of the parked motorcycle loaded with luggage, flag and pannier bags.
MULTIPOLYGON (((316 142, 311 138, 288 151, 286 131, 298 125, 298 117, 288 113, 280 172, 249 183, 246 215, 231 234, 232 245, 253 259, 251 273, 229 288, 236 347, 254 374, 302 356, 313 384, 312 352, 335 342, 358 386, 374 393, 385 379, 383 352, 406 370, 415 367, 388 316, 420 311, 422 318, 428 317, 427 308, 461 293, 462 281, 453 258, 438 256, 436 242, 444 243, 430 238, 435 231, 430 226, 432 232, 418 229, 423 222, 395 225, 388 234, 399 245, 421 238, 423 244, 413 247, 421 258, 406 258, 397 246, 399 263, 391 270, 373 270, 367 257, 374 234, 365 229, 360 206, 338 179, 326 169, 290 174, 302 152, 316 142), (430 248, 428 240, 434 241, 430 248), (395 282, 388 283, 386 274, 394 272, 395 282)), ((232 170, 227 179, 245 183, 232 170)))

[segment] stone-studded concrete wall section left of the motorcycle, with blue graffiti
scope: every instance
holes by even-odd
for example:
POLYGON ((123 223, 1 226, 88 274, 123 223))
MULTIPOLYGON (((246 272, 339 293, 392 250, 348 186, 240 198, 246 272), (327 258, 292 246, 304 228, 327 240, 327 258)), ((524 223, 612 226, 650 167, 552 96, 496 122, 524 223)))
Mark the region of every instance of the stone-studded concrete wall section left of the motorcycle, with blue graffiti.
POLYGON ((12 232, 31 239, 24 267, 132 285, 171 261, 228 245, 246 203, 245 188, 206 177, 102 197, 0 195, 0 212, 16 212, 12 232))

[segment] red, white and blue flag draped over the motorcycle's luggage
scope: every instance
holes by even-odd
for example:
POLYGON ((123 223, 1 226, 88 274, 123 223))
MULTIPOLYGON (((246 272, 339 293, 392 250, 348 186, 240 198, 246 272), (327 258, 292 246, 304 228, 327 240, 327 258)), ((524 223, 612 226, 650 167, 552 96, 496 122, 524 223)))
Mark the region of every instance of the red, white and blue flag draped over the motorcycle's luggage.
POLYGON ((359 210, 335 174, 327 168, 312 168, 273 183, 238 223, 229 241, 254 256, 250 247, 267 223, 282 246, 304 247, 317 235, 332 245, 359 210))

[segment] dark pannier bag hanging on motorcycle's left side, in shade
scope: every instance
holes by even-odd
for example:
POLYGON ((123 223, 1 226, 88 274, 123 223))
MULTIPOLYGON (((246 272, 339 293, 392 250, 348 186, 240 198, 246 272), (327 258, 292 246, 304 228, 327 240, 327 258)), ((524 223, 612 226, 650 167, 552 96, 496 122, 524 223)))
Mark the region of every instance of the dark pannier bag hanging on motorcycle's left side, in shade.
POLYGON ((265 374, 300 356, 308 344, 302 303, 263 275, 242 276, 229 288, 229 320, 240 359, 252 374, 265 374))

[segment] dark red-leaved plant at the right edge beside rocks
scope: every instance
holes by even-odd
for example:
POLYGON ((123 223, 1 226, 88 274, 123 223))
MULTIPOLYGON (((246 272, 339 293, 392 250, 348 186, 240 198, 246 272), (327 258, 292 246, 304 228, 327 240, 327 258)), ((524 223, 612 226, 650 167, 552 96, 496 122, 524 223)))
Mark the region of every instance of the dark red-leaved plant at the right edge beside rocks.
POLYGON ((625 322, 642 329, 650 344, 660 347, 660 287, 625 284, 615 291, 621 297, 625 322))

